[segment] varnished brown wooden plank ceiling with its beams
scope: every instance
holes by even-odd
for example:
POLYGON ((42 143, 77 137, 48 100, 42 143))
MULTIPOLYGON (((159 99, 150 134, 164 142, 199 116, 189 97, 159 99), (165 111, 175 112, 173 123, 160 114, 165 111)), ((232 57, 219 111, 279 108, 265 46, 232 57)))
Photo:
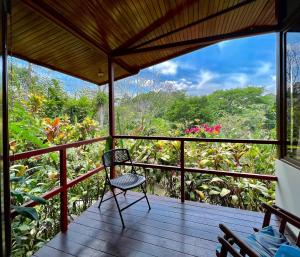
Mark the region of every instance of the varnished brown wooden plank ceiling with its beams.
POLYGON ((13 0, 9 51, 96 83, 241 36, 275 31, 277 0, 13 0), (103 72, 103 76, 99 76, 103 72))

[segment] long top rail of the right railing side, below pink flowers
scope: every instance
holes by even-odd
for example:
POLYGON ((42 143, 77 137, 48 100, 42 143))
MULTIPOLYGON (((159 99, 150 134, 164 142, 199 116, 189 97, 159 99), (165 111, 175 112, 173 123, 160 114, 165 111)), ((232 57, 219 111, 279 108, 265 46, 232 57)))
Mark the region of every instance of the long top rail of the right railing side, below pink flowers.
POLYGON ((262 139, 230 139, 230 138, 200 138, 200 137, 166 137, 166 136, 130 136, 116 135, 120 139, 145 139, 145 140, 169 140, 169 141, 193 141, 193 142, 220 142, 220 143, 241 143, 241 144, 268 144, 279 145, 279 140, 262 139))

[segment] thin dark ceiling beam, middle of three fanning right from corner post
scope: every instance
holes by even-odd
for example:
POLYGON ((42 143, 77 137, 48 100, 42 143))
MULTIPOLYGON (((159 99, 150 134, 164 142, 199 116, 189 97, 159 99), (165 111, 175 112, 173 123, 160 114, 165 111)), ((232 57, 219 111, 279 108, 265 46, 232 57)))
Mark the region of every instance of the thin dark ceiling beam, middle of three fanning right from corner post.
POLYGON ((136 46, 135 46, 134 48, 132 48, 132 49, 137 49, 137 48, 140 48, 140 47, 142 47, 142 46, 148 45, 148 44, 150 44, 150 43, 152 43, 152 42, 155 42, 155 41, 157 41, 157 40, 159 40, 159 39, 162 39, 162 38, 164 38, 164 37, 170 36, 170 35, 172 35, 172 34, 174 34, 174 33, 177 33, 177 32, 179 32, 179 31, 182 31, 182 30, 184 30, 184 29, 188 29, 188 28, 190 28, 190 27, 192 27, 192 26, 198 25, 199 23, 208 21, 208 20, 213 19, 213 18, 216 18, 216 17, 218 17, 218 16, 220 16, 220 15, 223 15, 223 14, 226 14, 226 13, 231 12, 231 11, 233 11, 233 10, 236 10, 236 9, 238 9, 238 8, 241 8, 241 7, 243 7, 243 6, 245 6, 245 5, 248 5, 248 4, 252 3, 252 2, 255 2, 255 0, 245 0, 245 1, 242 1, 242 2, 240 2, 240 3, 238 3, 238 4, 235 4, 235 5, 233 5, 233 6, 229 7, 229 8, 226 8, 226 9, 220 11, 220 12, 216 12, 216 13, 214 13, 214 14, 211 14, 211 15, 207 16, 207 17, 204 17, 204 18, 202 18, 202 19, 199 19, 199 20, 197 20, 197 21, 194 21, 194 22, 192 22, 192 23, 190 23, 190 24, 187 24, 187 25, 185 25, 185 26, 182 26, 182 27, 179 27, 179 28, 177 28, 177 29, 171 30, 171 31, 169 31, 169 32, 167 32, 167 33, 165 33, 165 34, 163 34, 163 35, 160 35, 160 36, 157 36, 157 37, 155 37, 155 38, 152 38, 152 39, 150 39, 150 40, 148 40, 148 41, 146 41, 146 42, 142 42, 142 43, 136 45, 136 46))

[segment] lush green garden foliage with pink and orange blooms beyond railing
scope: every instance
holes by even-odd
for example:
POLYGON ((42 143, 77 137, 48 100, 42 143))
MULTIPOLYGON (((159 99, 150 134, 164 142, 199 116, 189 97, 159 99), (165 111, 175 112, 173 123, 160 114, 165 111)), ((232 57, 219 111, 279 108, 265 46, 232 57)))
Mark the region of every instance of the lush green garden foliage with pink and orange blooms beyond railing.
MULTIPOLYGON (((95 90, 66 93, 57 80, 41 78, 29 69, 13 67, 9 87, 10 153, 20 153, 107 135, 107 95, 95 90)), ((218 90, 206 96, 182 91, 151 91, 116 100, 118 134, 205 138, 275 137, 274 95, 260 87, 218 90)), ((103 143, 68 149, 68 179, 101 165, 103 143)), ((160 140, 117 140, 133 159, 145 163, 180 165, 180 143, 160 140)), ((186 143, 186 167, 273 174, 276 149, 269 145, 186 143)), ((147 189, 153 194, 179 197, 180 174, 145 170, 147 189)), ((59 156, 53 152, 14 163, 10 171, 12 206, 21 214, 12 224, 14 256, 31 256, 59 231, 59 199, 40 196, 59 185, 59 156), (24 209, 33 200, 40 205, 24 209), (51 202, 50 202, 51 201, 51 202)), ((207 174, 185 175, 186 199, 249 210, 274 200, 274 183, 207 174)), ((97 174, 71 188, 69 220, 95 202, 103 187, 97 174)))

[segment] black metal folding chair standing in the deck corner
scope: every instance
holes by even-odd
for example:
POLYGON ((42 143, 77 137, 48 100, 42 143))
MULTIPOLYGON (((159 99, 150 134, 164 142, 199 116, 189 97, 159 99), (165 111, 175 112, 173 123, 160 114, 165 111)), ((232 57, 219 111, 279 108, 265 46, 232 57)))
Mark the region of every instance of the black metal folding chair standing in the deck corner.
POLYGON ((100 206, 103 202, 105 202, 105 201, 107 201, 111 198, 114 198, 115 202, 117 204, 117 208, 118 208, 120 217, 121 217, 123 228, 125 228, 124 220, 123 220, 123 217, 122 217, 122 211, 124 211, 125 209, 127 209, 131 205, 139 202, 140 200, 142 200, 144 198, 146 198, 146 200, 147 200, 149 210, 151 209, 150 204, 149 204, 149 200, 148 200, 148 197, 146 195, 145 188, 144 188, 146 178, 144 176, 138 175, 136 173, 136 170, 135 170, 135 168, 132 164, 132 160, 130 158, 130 155, 129 155, 129 152, 128 152, 127 149, 115 149, 115 150, 107 151, 103 154, 102 161, 103 161, 103 165, 104 165, 104 168, 105 168, 105 185, 104 185, 104 188, 103 188, 103 192, 102 192, 102 195, 101 195, 101 200, 100 200, 98 208, 100 209, 100 206), (125 174, 123 174, 123 175, 121 175, 117 178, 110 179, 109 175, 108 175, 108 171, 109 171, 108 168, 111 169, 112 167, 115 167, 115 166, 118 166, 118 165, 123 166, 125 164, 125 162, 130 164, 130 167, 131 167, 130 173, 125 173, 125 174), (113 196, 103 200, 107 185, 109 185, 109 188, 110 188, 113 196), (136 187, 139 187, 139 186, 142 188, 144 196, 139 198, 138 200, 130 203, 129 205, 127 205, 123 208, 120 208, 118 200, 117 200, 117 195, 124 193, 124 196, 126 196, 127 190, 130 190, 130 189, 133 189, 133 188, 136 188, 136 187), (122 192, 116 194, 115 191, 114 191, 115 188, 118 188, 118 189, 122 190, 122 192))

